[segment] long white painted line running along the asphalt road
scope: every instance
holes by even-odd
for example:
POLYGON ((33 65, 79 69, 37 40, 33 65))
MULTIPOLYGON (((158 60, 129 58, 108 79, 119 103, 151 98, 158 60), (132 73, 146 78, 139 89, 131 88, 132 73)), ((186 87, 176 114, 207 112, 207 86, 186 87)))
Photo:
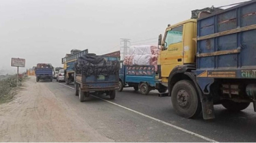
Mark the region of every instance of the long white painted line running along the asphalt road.
MULTIPOLYGON (((61 84, 61 83, 59 83, 59 82, 57 82, 57 83, 58 83, 58 84, 61 84)), ((67 86, 67 85, 65 85, 65 84, 62 84, 62 85, 67 86)), ((74 88, 71 87, 71 86, 67 86, 67 87, 69 87, 69 88, 71 88, 71 89, 74 89, 74 88)), ((184 131, 185 133, 189 133, 189 134, 191 134, 191 135, 193 135, 193 136, 196 136, 196 137, 198 137, 198 138, 202 138, 203 140, 207 140, 207 141, 209 141, 209 142, 217 142, 216 140, 212 140, 212 139, 207 138, 207 137, 205 137, 205 136, 201 136, 201 135, 199 135, 198 133, 194 133, 194 132, 192 132, 192 131, 188 131, 187 129, 183 129, 183 128, 181 128, 181 127, 177 127, 176 125, 172 125, 172 124, 170 124, 170 123, 167 123, 167 122, 165 122, 165 121, 159 120, 159 119, 154 118, 154 117, 152 117, 152 116, 143 114, 143 113, 138 112, 138 111, 136 111, 136 110, 132 110, 132 109, 127 108, 127 107, 125 107, 125 106, 121 106, 121 105, 116 104, 116 103, 114 103, 114 102, 112 102, 112 101, 108 101, 108 100, 102 99, 102 98, 97 97, 97 96, 94 96, 94 95, 91 95, 91 96, 92 96, 92 97, 96 97, 96 98, 98 98, 98 99, 101 99, 101 100, 103 100, 103 101, 106 101, 106 102, 108 102, 108 103, 110 103, 110 104, 114 104, 115 106, 118 106, 118 107, 120 107, 120 108, 124 108, 124 109, 126 109, 126 110, 131 111, 131 112, 135 112, 136 114, 140 114, 141 116, 144 116, 144 117, 146 117, 146 118, 150 118, 150 119, 152 119, 153 121, 157 121, 157 122, 159 122, 159 123, 163 123, 164 125, 168 125, 168 126, 170 126, 170 127, 173 127, 173 128, 178 129, 178 130, 180 130, 180 131, 184 131)))

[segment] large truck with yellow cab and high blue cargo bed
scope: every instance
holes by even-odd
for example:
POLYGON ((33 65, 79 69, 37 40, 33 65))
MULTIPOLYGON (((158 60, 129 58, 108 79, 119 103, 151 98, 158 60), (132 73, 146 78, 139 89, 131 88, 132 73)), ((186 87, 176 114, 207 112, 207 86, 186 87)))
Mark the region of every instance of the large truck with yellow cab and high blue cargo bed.
POLYGON ((256 111, 256 1, 201 16, 159 35, 159 79, 174 110, 205 119, 215 118, 216 104, 240 111, 253 103, 256 111))

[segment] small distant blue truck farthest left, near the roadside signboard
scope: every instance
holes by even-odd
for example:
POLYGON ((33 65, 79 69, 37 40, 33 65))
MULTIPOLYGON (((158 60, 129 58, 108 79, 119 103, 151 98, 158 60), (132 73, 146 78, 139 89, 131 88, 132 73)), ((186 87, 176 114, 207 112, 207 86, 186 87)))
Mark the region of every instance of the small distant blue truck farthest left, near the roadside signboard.
POLYGON ((50 63, 38 63, 35 70, 36 82, 39 82, 39 80, 53 81, 53 66, 50 63))

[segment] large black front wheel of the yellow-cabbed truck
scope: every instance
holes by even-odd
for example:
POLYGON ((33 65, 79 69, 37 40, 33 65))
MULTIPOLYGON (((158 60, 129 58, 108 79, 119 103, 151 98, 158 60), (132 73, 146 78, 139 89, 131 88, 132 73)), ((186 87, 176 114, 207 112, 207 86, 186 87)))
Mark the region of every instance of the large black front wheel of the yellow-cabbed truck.
POLYGON ((181 80, 173 86, 171 100, 175 112, 184 118, 193 118, 202 111, 200 97, 190 80, 181 80))

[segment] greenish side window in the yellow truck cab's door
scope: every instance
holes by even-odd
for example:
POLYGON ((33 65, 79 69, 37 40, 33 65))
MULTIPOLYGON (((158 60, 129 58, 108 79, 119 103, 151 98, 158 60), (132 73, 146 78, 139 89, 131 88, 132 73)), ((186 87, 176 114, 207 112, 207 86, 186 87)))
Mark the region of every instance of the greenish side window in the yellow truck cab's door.
POLYGON ((176 44, 182 42, 183 35, 183 25, 180 27, 175 27, 170 31, 166 32, 166 39, 164 40, 164 50, 167 50, 168 46, 171 44, 176 44))

